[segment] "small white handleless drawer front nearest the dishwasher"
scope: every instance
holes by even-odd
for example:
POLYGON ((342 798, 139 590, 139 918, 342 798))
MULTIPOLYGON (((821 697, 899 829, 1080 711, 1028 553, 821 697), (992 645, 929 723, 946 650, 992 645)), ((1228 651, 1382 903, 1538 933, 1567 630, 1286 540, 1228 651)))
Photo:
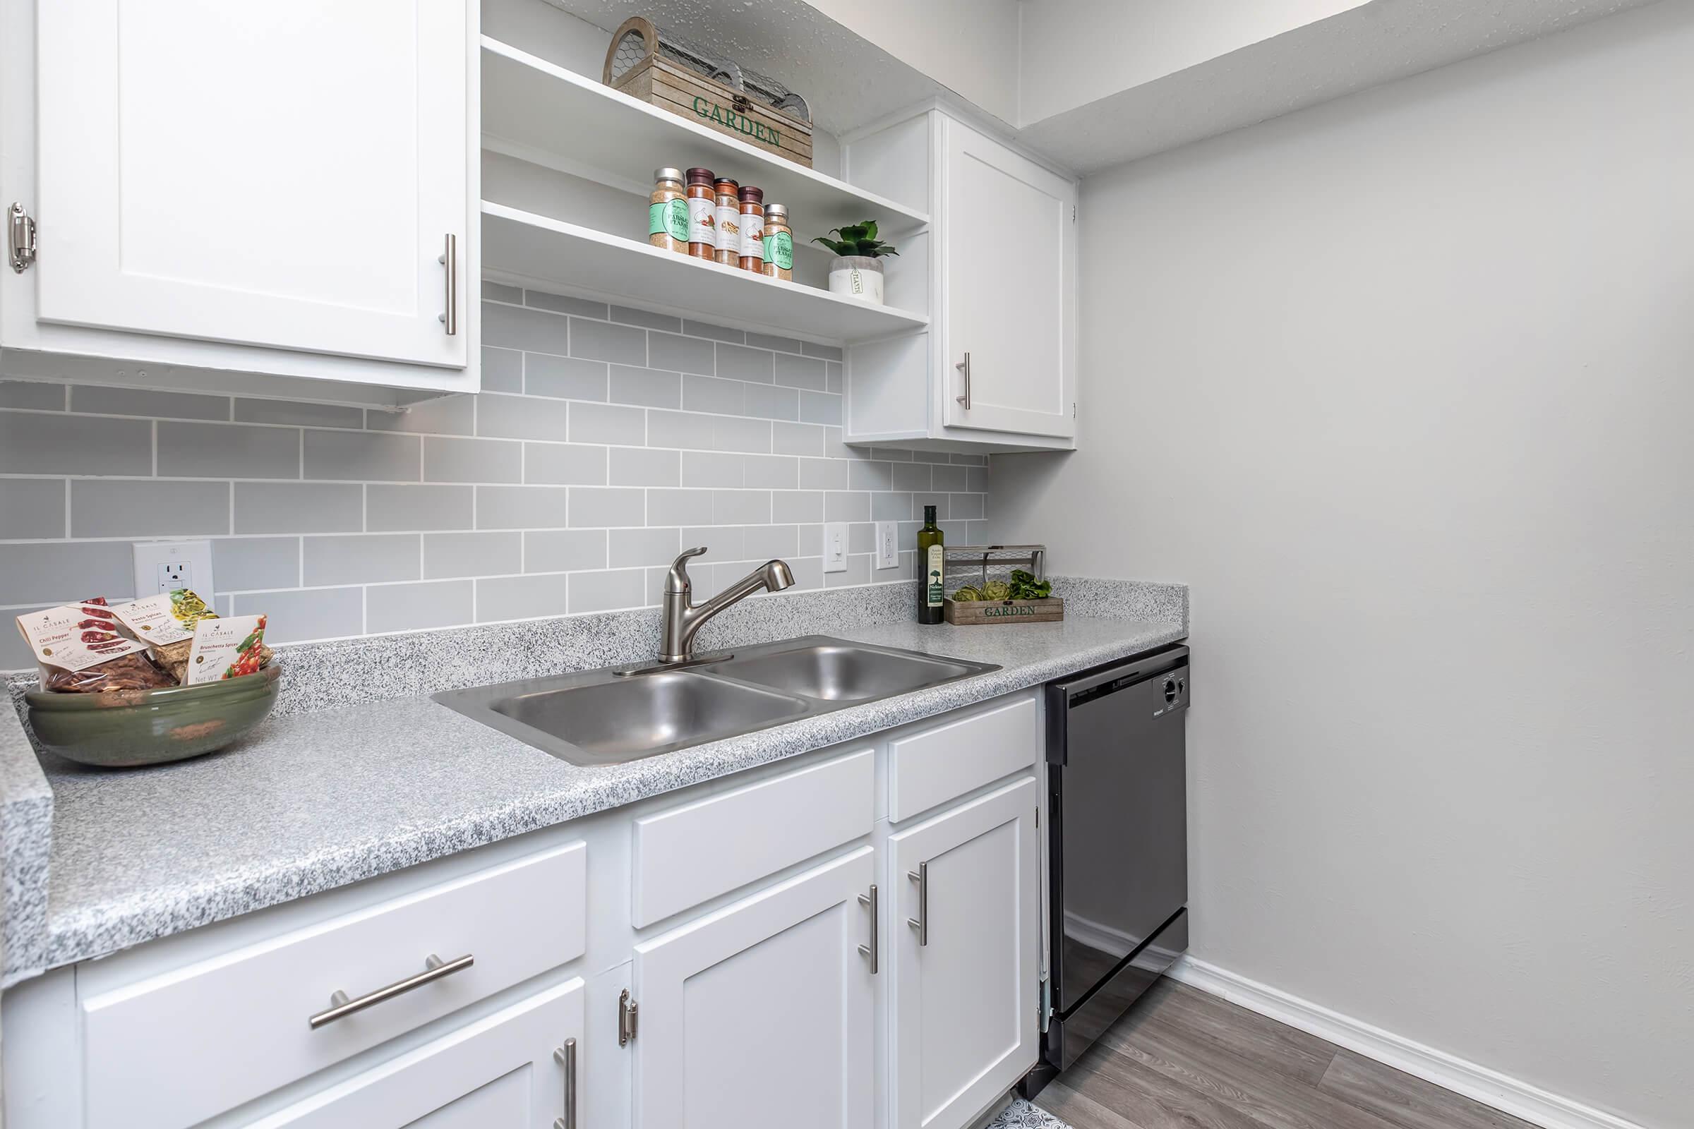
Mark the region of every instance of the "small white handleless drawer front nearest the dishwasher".
POLYGON ((1040 760, 1035 697, 889 741, 888 753, 888 818, 900 823, 1040 760))

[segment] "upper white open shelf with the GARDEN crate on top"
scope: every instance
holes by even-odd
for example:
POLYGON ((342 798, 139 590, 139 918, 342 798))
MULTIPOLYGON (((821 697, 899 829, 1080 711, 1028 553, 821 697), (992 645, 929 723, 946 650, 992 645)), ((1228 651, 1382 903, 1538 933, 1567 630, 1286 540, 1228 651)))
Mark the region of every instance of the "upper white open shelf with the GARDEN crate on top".
MULTIPOLYGON (((930 222, 922 212, 772 156, 669 110, 483 36, 483 135, 522 156, 552 157, 605 183, 645 193, 657 166, 708 168, 788 207, 794 235, 876 220, 884 235, 930 222)), ((798 240, 796 240, 798 242, 798 240)))

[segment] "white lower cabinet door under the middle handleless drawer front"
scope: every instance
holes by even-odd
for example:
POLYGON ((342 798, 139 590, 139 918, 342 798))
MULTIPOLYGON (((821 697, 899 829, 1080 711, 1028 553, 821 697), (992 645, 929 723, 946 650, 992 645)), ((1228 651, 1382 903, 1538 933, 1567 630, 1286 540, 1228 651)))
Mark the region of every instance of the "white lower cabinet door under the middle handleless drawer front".
POLYGON ((635 946, 637 1129, 869 1129, 872 856, 635 946))

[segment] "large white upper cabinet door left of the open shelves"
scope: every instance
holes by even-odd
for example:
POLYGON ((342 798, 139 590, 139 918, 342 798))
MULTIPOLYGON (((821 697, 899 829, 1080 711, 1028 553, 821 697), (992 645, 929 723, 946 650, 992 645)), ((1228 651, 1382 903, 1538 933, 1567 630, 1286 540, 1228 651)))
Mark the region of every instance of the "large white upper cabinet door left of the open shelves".
POLYGON ((462 367, 466 47, 466 0, 41 3, 37 317, 462 367))

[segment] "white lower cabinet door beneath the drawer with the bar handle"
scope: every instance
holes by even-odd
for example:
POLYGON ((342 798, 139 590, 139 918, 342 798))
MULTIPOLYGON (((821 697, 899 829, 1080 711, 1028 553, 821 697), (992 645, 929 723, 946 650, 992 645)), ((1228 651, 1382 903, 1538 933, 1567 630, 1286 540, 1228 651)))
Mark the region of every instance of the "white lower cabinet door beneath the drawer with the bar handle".
MULTIPOLYGON (((586 1077, 569 980, 252 1122, 254 1129, 551 1129, 586 1077), (574 1041, 574 1043, 567 1043, 574 1041), (564 1061, 559 1061, 564 1060, 564 1061)), ((576 1119, 579 1121, 579 1117, 576 1119)), ((576 1124, 566 1121, 566 1124, 576 1124)))

